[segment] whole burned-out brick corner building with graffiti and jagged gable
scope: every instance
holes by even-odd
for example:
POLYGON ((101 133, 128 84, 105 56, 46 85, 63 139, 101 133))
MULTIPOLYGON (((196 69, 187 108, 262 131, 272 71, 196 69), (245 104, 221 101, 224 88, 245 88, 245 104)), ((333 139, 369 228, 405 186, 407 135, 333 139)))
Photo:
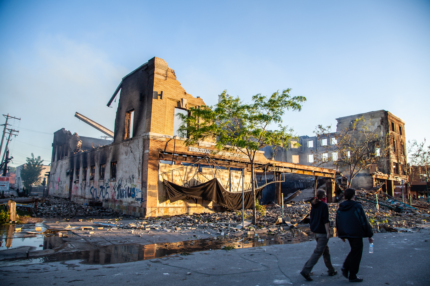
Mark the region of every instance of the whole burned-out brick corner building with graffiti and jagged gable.
MULTIPOLYGON (((187 147, 184 138, 175 136, 175 114, 205 103, 181 87, 164 60, 154 57, 126 75, 107 106, 117 96, 114 131, 91 124, 113 136, 113 141, 80 137, 65 129, 54 133, 50 196, 144 217, 224 208, 213 200, 190 196, 172 202, 163 181, 194 187, 217 178, 222 193, 238 193, 242 185, 251 188, 249 158, 239 150, 219 152, 210 140, 187 147)), ((285 173, 324 177, 329 182, 329 202, 335 199, 332 169, 268 160, 264 151, 257 152, 255 166, 258 187, 268 186, 267 178, 279 181, 285 173)), ((273 192, 279 201, 280 184, 275 184, 265 191, 273 192)))

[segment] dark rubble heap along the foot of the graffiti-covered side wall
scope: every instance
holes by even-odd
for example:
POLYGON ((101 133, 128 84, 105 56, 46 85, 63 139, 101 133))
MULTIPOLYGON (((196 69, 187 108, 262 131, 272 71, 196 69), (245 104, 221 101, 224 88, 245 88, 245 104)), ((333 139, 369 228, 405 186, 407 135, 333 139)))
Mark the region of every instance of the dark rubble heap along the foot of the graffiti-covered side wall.
POLYGON ((81 205, 61 198, 47 198, 37 205, 38 217, 75 217, 75 216, 101 216, 115 214, 108 208, 81 205), (44 202, 43 202, 44 201, 44 202))

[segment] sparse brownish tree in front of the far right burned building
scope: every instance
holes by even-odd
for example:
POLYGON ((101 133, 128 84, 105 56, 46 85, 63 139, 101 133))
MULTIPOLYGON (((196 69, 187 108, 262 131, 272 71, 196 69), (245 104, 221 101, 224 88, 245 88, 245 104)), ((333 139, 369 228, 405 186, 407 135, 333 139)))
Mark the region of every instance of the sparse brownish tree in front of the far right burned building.
POLYGON ((331 145, 322 146, 321 154, 314 154, 314 165, 320 166, 333 162, 336 169, 344 172, 348 180, 348 188, 352 180, 364 169, 378 163, 385 149, 380 146, 378 132, 372 129, 371 123, 366 123, 364 117, 356 118, 350 125, 338 133, 331 133, 331 126, 316 126, 314 133, 317 138, 335 138, 331 145))

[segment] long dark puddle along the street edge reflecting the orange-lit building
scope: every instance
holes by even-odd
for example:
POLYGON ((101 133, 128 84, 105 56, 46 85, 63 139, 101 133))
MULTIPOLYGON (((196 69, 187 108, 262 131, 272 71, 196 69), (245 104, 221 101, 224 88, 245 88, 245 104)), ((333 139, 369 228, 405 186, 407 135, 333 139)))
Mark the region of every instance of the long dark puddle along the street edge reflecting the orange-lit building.
MULTIPOLYGON (((89 248, 91 248, 89 250, 57 252, 48 256, 31 259, 4 259, 0 261, 0 266, 6 264, 19 265, 23 263, 60 262, 75 259, 82 260, 81 263, 83 264, 106 265, 154 259, 172 254, 188 255, 197 251, 221 249, 222 246, 234 245, 235 248, 262 247, 274 244, 295 244, 309 239, 313 239, 312 232, 309 230, 296 230, 287 232, 285 235, 261 234, 258 236, 234 238, 219 237, 166 244, 121 244, 110 246, 89 244, 89 248)), ((43 239, 43 249, 55 248, 63 243, 64 240, 58 238, 58 236, 46 236, 43 239)))

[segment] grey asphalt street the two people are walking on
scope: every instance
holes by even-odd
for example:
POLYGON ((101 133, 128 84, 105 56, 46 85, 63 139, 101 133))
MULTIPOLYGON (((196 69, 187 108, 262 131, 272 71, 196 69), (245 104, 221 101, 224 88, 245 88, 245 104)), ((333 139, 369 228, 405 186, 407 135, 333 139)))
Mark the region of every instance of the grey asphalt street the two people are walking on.
MULTIPOLYGON (((430 285, 430 229, 417 233, 377 233, 374 253, 365 239, 359 277, 365 285, 430 285)), ((322 258, 313 268, 313 281, 300 275, 316 243, 272 245, 244 249, 207 250, 109 265, 79 260, 43 263, 20 261, 0 268, 0 285, 350 285, 341 271, 329 277, 322 258), (189 274, 187 274, 189 273, 189 274)), ((340 238, 330 238, 332 264, 340 270, 350 250, 340 238)), ((354 284, 352 284, 354 285, 354 284)))

